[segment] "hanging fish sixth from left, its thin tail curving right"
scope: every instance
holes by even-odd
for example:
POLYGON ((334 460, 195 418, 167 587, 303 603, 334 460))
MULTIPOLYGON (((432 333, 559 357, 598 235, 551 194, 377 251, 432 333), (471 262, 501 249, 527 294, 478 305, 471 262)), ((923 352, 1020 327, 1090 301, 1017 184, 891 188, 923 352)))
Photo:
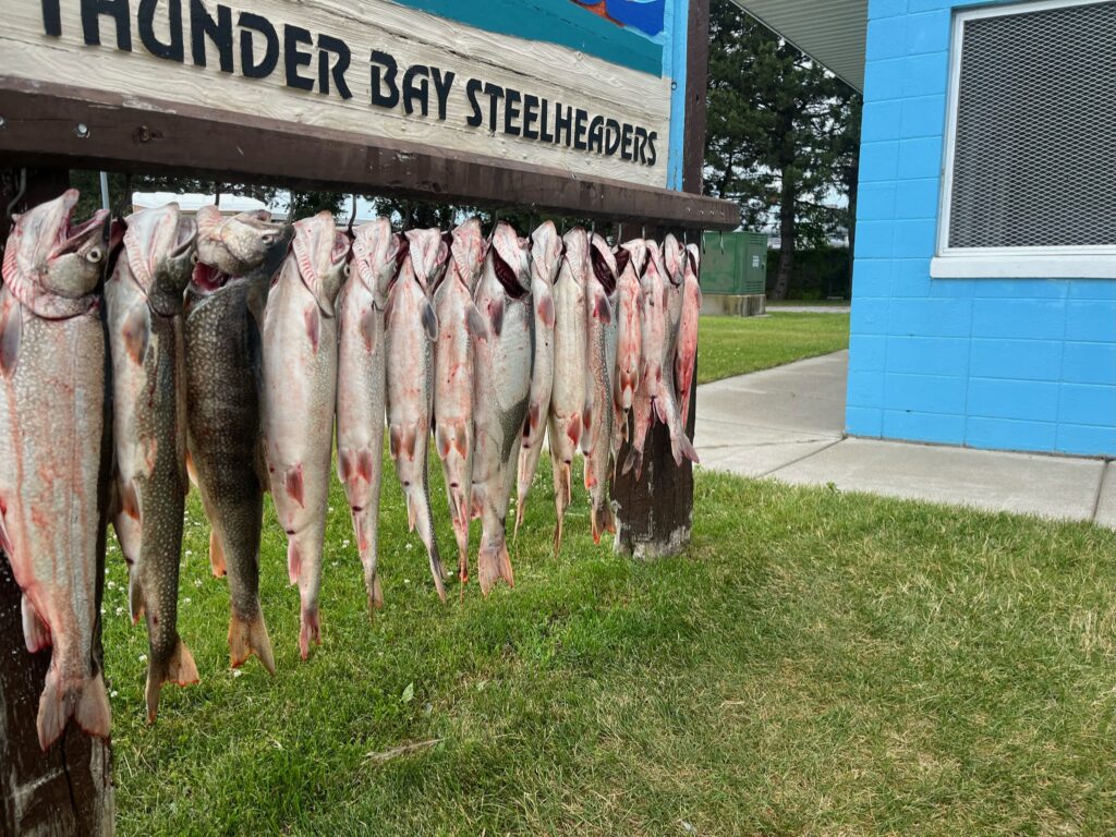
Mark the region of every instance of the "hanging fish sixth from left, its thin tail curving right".
POLYGON ((445 270, 450 248, 440 230, 410 230, 407 254, 387 295, 387 426, 395 473, 407 501, 407 526, 426 547, 439 598, 446 573, 434 535, 426 459, 434 414, 437 315, 430 294, 445 270))

